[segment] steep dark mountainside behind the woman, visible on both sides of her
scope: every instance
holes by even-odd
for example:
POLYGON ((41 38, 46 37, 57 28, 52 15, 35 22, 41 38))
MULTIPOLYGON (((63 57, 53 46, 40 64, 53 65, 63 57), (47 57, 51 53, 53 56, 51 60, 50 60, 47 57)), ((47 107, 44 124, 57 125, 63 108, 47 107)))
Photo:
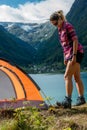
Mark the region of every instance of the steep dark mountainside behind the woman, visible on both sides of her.
MULTIPOLYGON (((70 12, 66 17, 68 21, 74 25, 79 41, 84 46, 85 56, 82 62, 82 67, 85 68, 87 67, 87 0, 75 0, 70 12)), ((57 31, 55 30, 52 37, 45 42, 44 47, 41 46, 39 49, 39 54, 42 55, 43 62, 48 61, 49 59, 50 64, 52 64, 52 61, 59 63, 62 62, 62 51, 61 47, 59 46, 59 40, 57 41, 57 37, 57 31), (55 49, 56 47, 57 50, 55 49)))

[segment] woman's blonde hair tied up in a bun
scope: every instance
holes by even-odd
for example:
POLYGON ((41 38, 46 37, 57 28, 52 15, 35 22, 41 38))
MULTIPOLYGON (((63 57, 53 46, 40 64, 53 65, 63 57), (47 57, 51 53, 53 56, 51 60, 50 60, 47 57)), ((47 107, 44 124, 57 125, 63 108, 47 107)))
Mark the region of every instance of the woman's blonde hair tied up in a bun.
POLYGON ((62 10, 56 11, 54 12, 51 16, 50 16, 50 21, 54 21, 54 20, 58 20, 59 18, 61 18, 63 21, 67 21, 66 17, 63 14, 62 10))

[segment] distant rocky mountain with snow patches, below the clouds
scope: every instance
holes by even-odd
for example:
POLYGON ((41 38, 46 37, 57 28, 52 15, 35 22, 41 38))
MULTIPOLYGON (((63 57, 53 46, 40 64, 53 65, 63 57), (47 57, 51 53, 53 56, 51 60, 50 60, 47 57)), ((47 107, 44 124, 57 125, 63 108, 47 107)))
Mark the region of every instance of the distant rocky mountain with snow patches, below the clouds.
POLYGON ((0 24, 9 33, 31 44, 35 49, 38 49, 43 41, 49 39, 55 30, 49 22, 42 24, 1 22, 0 24))

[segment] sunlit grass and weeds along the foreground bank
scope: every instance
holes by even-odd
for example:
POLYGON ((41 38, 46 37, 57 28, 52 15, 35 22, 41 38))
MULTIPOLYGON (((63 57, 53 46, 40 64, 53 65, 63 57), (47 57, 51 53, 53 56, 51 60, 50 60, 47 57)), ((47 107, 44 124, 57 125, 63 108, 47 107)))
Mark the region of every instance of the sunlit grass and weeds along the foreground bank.
POLYGON ((87 104, 72 109, 0 110, 0 130, 87 130, 87 104))

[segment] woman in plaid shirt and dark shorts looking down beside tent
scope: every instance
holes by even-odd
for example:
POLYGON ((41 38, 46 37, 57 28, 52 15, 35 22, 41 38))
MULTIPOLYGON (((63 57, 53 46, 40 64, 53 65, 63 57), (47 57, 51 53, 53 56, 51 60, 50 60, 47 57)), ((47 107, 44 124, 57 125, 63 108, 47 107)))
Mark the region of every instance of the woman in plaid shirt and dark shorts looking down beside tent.
POLYGON ((64 52, 64 64, 66 65, 64 74, 66 96, 62 105, 64 108, 71 108, 72 76, 74 76, 79 95, 76 105, 82 105, 85 103, 84 86, 80 78, 80 63, 84 56, 83 47, 78 42, 74 27, 66 21, 63 11, 54 12, 50 16, 50 22, 58 28, 59 40, 64 52))

